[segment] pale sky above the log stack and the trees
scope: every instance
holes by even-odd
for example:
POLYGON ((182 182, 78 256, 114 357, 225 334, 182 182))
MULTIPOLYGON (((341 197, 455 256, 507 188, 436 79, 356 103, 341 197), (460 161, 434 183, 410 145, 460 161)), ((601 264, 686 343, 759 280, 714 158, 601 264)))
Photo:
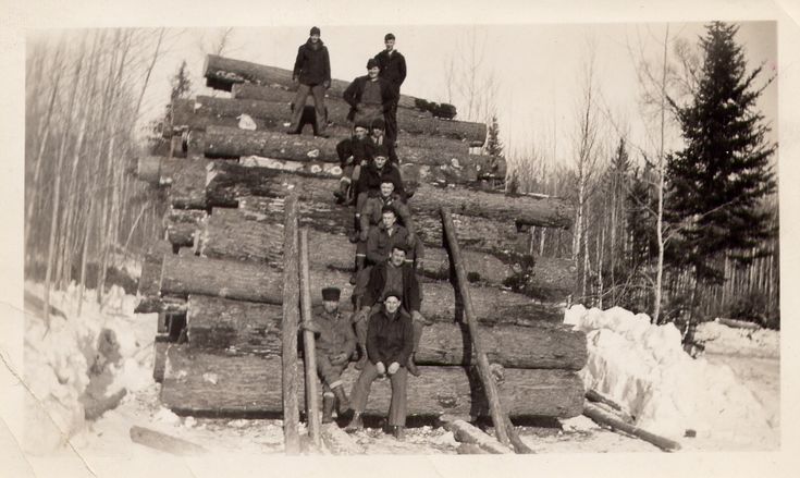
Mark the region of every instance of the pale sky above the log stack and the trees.
MULTIPOLYGON (((582 88, 580 72, 592 50, 595 85, 603 109, 611 112, 615 126, 629 132, 630 140, 647 143, 637 102, 640 91, 631 49, 636 51, 641 45, 644 57, 660 63, 660 44, 667 26, 665 23, 342 26, 308 22, 296 26, 236 27, 231 33, 225 56, 291 69, 297 47, 307 39, 312 25, 322 29, 333 77, 345 81, 365 74, 367 59, 383 48, 383 35, 394 33, 396 48, 408 64, 403 93, 435 101, 448 99, 447 65, 455 61, 456 69, 466 66, 467 48, 475 39, 477 56, 482 58, 479 76, 491 75, 496 84, 494 102, 507 149, 524 156, 531 147, 552 151, 555 140, 561 161, 573 157, 576 107, 582 88)), ((739 25, 737 40, 744 47, 750 69, 765 63, 759 82, 763 84, 776 71, 776 24, 743 22, 739 25)), ((204 57, 221 32, 221 28, 169 30, 169 50, 159 60, 150 81, 146 118, 163 111, 170 77, 184 59, 195 94, 210 93, 202 86, 204 57)), ((702 23, 669 24, 673 41, 685 38, 697 44, 703 33, 702 23)), ((774 125, 777 125, 777 83, 767 87, 760 101, 760 109, 774 125)), ((463 118, 467 113, 466 103, 457 91, 452 99, 463 118)), ((607 135, 612 144, 616 142, 611 139, 616 135, 615 130, 607 135)))

